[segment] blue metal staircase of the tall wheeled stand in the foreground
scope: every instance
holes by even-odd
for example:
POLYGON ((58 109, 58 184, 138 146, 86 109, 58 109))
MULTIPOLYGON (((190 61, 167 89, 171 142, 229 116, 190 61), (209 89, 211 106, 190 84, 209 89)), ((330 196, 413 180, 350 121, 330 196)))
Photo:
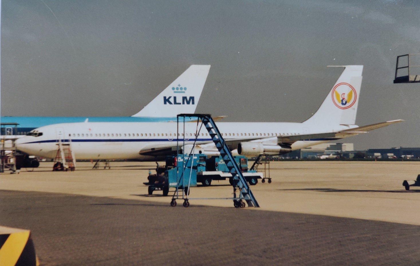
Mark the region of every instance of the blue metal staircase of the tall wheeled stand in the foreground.
POLYGON ((223 140, 222 134, 218 130, 211 115, 210 114, 179 114, 177 116, 178 122, 179 122, 180 117, 183 117, 184 121, 185 121, 185 118, 190 118, 190 117, 197 117, 201 119, 202 124, 207 129, 207 132, 209 133, 218 151, 220 152, 220 156, 223 158, 223 161, 226 163, 226 166, 228 167, 229 172, 233 176, 232 185, 234 188, 234 193, 233 193, 234 198, 231 198, 231 199, 234 201, 234 206, 236 208, 239 208, 239 207, 244 208, 245 207, 244 201, 245 201, 247 202, 249 207, 260 207, 254 195, 252 194, 251 190, 249 189, 249 185, 247 184, 247 181, 244 175, 239 169, 239 166, 235 163, 235 159, 231 151, 229 150, 228 145, 223 140), (238 191, 239 191, 238 193, 239 195, 237 196, 238 191))

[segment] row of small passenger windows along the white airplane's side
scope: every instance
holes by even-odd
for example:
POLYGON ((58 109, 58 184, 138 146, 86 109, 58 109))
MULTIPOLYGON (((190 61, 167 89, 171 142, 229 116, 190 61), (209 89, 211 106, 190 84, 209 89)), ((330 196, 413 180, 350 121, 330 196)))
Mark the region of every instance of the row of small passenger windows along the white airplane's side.
MULTIPOLYGON (((121 134, 121 133, 106 133, 106 134, 68 134, 69 137, 175 137, 176 133, 128 133, 128 134, 121 134)), ((186 136, 194 136, 195 137, 195 133, 186 133, 186 136)), ((284 135, 296 135, 296 133, 222 133, 222 136, 284 136, 284 135)), ((184 133, 178 134, 178 136, 184 136, 184 133)), ((208 136, 207 133, 201 133, 201 136, 208 136)))

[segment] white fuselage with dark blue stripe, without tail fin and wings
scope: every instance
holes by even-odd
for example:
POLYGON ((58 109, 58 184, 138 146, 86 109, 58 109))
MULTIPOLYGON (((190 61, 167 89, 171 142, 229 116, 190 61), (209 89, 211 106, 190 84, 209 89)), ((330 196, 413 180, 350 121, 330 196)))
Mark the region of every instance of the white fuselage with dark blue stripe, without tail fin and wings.
MULTIPOLYGON (((199 123, 200 126, 201 123, 199 123)), ((278 136, 338 132, 357 127, 343 125, 308 125, 305 123, 239 123, 219 122, 223 139, 277 144, 278 136)), ((197 123, 185 123, 185 144, 194 143, 199 130, 197 123)), ((86 122, 43 126, 37 129, 39 137, 25 136, 18 140, 18 149, 44 158, 54 158, 58 139, 71 140, 71 148, 78 160, 132 159, 154 161, 156 156, 141 155, 142 150, 172 145, 176 147, 176 122, 86 122), (59 136, 61 134, 61 136, 59 136)), ((184 124, 179 123, 179 145, 183 145, 184 124)), ((294 142, 292 150, 325 143, 331 139, 313 139, 294 142)), ((197 144, 212 143, 204 126, 199 130, 197 144)), ((210 144, 211 145, 211 144, 210 144)), ((176 150, 176 148, 175 148, 176 150)), ((187 151, 186 151, 187 152, 187 151)))

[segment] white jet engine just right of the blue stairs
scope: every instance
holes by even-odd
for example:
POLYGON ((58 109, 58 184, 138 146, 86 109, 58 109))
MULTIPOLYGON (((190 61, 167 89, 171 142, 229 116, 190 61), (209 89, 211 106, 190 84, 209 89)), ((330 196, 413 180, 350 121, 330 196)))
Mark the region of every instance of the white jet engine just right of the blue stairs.
POLYGON ((287 145, 264 145, 261 142, 241 142, 238 144, 240 155, 280 155, 291 152, 287 145))

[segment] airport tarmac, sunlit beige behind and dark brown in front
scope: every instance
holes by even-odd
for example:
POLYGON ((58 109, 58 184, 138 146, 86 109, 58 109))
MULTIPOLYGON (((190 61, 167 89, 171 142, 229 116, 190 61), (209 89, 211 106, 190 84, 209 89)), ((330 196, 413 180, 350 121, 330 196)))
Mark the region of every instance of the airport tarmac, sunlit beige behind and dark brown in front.
MULTIPOLYGON (((420 190, 402 186, 418 162, 272 162, 273 182, 251 186, 261 208, 243 209, 231 200, 171 207, 160 191, 147 195, 154 163, 76 166, 0 175, 0 225, 30 229, 41 265, 420 262, 420 190)), ((190 194, 231 196, 228 181, 190 194)))

